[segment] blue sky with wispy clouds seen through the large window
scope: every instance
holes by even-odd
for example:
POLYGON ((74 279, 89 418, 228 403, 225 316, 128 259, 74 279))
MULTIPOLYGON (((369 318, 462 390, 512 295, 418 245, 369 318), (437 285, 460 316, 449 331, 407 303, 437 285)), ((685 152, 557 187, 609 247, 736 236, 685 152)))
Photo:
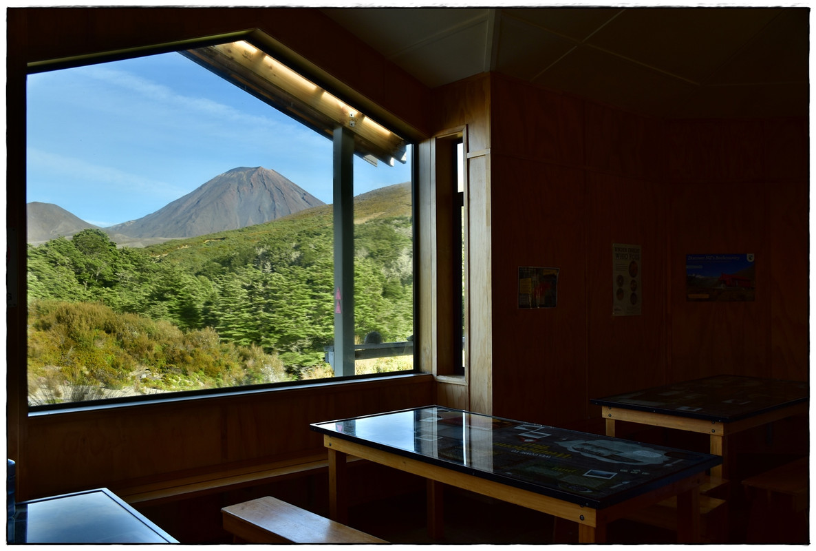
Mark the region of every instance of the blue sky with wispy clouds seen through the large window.
MULTIPOLYGON (((170 53, 29 75, 28 202, 99 226, 135 220, 236 167, 331 199, 331 141, 170 53)), ((354 194, 410 180, 355 158, 354 194)))

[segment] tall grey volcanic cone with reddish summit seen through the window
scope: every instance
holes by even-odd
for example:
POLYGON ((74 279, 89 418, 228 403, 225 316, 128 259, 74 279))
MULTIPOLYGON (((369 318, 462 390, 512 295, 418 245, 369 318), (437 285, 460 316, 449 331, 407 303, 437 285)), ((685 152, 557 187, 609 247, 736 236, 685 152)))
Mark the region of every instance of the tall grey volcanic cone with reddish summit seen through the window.
POLYGON ((192 238, 263 224, 324 204, 276 171, 239 167, 215 176, 153 214, 105 231, 131 238, 192 238))

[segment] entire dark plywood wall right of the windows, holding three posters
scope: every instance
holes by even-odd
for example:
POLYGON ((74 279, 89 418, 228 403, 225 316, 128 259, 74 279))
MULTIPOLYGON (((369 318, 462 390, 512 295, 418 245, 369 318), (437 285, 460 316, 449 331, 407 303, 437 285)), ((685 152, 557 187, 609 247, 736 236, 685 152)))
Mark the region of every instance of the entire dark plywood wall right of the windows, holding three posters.
POLYGON ((492 368, 472 402, 486 392, 496 415, 592 426, 589 399, 610 393, 807 378, 806 122, 665 121, 489 82, 490 189, 470 199, 490 211, 490 282, 471 294, 490 294, 492 368), (640 315, 612 315, 613 243, 642 247, 640 315), (694 251, 754 252, 756 300, 686 302, 694 251), (519 266, 560 270, 557 308, 517 308, 519 266))

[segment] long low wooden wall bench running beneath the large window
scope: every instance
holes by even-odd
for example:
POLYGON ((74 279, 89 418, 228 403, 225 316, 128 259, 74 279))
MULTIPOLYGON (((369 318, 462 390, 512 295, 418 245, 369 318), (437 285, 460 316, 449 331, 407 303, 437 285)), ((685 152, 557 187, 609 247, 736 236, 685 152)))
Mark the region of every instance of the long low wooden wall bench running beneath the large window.
MULTIPOLYGON (((356 460, 357 458, 349 458, 356 460)), ((112 488, 128 504, 162 504, 222 491, 259 486, 267 482, 328 472, 326 454, 288 461, 250 464, 230 469, 184 473, 130 487, 112 488)))

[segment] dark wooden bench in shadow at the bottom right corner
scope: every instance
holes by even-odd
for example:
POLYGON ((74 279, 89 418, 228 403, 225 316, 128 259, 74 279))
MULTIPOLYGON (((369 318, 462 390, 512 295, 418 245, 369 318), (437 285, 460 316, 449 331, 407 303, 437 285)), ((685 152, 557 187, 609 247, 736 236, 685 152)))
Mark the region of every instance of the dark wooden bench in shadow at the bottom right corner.
POLYGON ((809 458, 743 480, 751 543, 808 543, 809 458))

